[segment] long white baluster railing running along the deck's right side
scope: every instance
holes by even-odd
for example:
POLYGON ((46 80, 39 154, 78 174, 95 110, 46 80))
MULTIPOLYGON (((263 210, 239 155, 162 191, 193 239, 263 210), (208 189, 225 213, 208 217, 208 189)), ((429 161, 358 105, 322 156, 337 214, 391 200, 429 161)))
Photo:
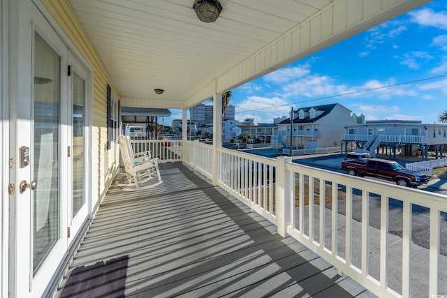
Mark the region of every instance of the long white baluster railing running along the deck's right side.
POLYGON ((277 225, 279 234, 298 239, 379 297, 447 292, 447 281, 440 281, 447 264, 440 253, 447 246, 441 238, 447 232, 445 195, 298 165, 287 157, 222 148, 213 156, 210 145, 183 142, 197 151, 185 163, 198 172, 214 169, 213 181, 277 225), (420 227, 420 221, 430 237, 416 244, 413 225, 420 227))

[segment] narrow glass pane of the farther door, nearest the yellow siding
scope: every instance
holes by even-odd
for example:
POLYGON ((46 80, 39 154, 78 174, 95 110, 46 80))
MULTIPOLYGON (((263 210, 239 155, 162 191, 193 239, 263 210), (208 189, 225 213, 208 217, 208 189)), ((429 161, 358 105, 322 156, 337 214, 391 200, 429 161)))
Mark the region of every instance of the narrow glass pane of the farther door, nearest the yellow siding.
POLYGON ((85 81, 73 73, 73 205, 71 217, 74 218, 85 202, 85 81))

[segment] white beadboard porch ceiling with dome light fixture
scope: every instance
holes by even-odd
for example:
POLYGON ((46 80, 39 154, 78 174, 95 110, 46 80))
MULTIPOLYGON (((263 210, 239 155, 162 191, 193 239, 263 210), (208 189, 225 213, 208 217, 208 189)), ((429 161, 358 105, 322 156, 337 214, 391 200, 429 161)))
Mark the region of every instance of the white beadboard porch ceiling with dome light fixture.
POLYGON ((232 89, 428 1, 220 0, 213 23, 198 20, 194 0, 69 2, 123 98, 183 107, 212 96, 200 93, 210 84, 214 91, 232 89), (284 47, 291 50, 277 54, 284 47), (250 59, 258 66, 249 66, 250 59), (235 77, 232 70, 244 64, 252 69, 235 77))

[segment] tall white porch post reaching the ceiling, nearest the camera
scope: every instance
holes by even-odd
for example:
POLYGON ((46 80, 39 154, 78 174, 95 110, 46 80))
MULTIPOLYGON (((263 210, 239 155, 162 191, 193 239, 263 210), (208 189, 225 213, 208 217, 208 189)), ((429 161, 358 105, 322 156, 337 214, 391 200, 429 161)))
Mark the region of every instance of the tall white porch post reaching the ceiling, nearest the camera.
POLYGON ((214 125, 212 126, 212 184, 216 186, 219 182, 219 154, 217 148, 222 147, 222 94, 214 94, 212 117, 214 125))

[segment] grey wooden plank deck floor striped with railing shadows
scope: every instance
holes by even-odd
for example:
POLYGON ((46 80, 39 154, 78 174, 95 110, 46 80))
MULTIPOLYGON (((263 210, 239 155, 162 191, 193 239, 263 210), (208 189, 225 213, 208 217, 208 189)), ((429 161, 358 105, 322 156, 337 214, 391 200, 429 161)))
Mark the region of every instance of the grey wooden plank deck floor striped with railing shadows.
POLYGON ((112 186, 71 269, 129 255, 126 297, 374 297, 182 163, 112 186))

